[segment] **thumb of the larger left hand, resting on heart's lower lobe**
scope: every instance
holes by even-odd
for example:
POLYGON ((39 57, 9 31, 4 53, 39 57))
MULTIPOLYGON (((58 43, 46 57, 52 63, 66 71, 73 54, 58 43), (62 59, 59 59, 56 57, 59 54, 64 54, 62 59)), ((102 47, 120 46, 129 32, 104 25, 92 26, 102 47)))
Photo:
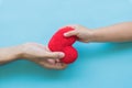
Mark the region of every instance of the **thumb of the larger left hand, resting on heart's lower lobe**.
POLYGON ((47 53, 45 55, 45 57, 47 57, 47 58, 63 58, 64 56, 65 56, 65 54, 62 52, 52 52, 52 53, 47 53))

